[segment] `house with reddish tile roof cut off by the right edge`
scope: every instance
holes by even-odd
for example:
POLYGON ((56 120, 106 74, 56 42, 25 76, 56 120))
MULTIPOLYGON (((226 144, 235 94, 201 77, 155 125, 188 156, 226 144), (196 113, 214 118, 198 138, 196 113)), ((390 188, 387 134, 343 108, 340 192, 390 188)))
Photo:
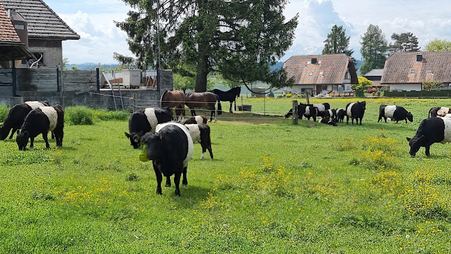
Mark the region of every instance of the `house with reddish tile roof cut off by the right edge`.
POLYGON ((390 91, 419 91, 423 82, 432 80, 450 88, 451 51, 397 52, 387 58, 381 84, 390 91))

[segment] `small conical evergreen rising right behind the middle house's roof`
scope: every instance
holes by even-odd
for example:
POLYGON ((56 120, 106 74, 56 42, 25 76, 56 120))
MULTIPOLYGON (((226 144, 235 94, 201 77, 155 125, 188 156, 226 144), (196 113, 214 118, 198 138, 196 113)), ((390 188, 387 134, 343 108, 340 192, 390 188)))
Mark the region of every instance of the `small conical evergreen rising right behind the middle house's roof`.
POLYGON ((322 54, 344 53, 347 54, 347 56, 351 56, 351 54, 354 53, 354 50, 348 49, 350 37, 346 37, 345 33, 346 29, 343 29, 343 26, 334 24, 331 33, 329 33, 327 39, 324 40, 326 44, 324 45, 322 54))

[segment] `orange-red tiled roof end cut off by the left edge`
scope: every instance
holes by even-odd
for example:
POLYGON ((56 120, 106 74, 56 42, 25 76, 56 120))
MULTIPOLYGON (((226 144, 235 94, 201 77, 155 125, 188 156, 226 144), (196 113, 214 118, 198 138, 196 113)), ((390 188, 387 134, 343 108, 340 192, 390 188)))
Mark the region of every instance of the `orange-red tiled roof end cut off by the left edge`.
POLYGON ((0 68, 12 68, 12 61, 26 58, 31 58, 31 53, 20 41, 8 13, 0 3, 0 68))

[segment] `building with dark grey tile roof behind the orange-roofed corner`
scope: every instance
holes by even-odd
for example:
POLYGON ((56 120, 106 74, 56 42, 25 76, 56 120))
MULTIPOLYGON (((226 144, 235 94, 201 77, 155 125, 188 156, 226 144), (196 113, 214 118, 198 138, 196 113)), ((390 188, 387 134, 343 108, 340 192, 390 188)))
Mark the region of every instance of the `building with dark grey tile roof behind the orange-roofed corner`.
POLYGON ((56 68, 63 65, 63 40, 79 40, 63 19, 42 0, 0 0, 21 38, 33 54, 19 68, 56 68), (34 64, 33 64, 34 63, 34 64))

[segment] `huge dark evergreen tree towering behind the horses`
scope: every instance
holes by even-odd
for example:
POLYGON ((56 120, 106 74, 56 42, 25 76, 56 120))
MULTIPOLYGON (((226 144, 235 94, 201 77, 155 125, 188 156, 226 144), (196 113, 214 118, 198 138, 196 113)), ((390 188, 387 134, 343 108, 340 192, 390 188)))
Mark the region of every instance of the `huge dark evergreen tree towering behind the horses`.
POLYGON ((283 70, 269 70, 294 38, 298 16, 285 22, 287 0, 123 1, 133 10, 116 25, 127 32, 141 68, 194 65, 196 92, 206 90, 212 71, 244 84, 291 84, 283 70))

